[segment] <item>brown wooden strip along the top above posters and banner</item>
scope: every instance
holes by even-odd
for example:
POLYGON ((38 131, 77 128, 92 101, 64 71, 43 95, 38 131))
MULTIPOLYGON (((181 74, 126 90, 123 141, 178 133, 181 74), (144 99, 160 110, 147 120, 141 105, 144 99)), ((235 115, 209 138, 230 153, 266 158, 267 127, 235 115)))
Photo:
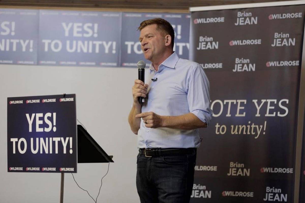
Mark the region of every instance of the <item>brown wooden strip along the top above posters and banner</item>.
MULTIPOLYGON (((131 10, 135 11, 155 9, 156 12, 164 10, 181 10, 187 12, 189 7, 212 6, 244 3, 270 2, 272 0, 0 0, 0 7, 27 7, 32 9, 43 8, 87 8, 98 10, 131 10)), ((284 0, 273 0, 273 2, 284 0)))

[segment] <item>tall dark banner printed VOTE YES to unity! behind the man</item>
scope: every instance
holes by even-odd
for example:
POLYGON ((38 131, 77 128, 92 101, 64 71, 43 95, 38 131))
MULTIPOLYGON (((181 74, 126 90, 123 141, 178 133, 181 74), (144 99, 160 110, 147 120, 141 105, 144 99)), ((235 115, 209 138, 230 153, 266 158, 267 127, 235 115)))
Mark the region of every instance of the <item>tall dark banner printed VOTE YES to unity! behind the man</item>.
POLYGON ((191 202, 292 202, 304 5, 192 12, 210 80, 191 202))

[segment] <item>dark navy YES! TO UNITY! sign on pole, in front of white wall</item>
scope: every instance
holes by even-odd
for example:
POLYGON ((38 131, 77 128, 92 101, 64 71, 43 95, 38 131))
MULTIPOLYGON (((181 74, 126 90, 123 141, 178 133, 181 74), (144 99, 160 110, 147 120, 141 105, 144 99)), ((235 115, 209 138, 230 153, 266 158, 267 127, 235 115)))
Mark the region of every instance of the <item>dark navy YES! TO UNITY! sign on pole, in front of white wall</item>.
POLYGON ((7 98, 8 172, 77 172, 75 94, 7 98))

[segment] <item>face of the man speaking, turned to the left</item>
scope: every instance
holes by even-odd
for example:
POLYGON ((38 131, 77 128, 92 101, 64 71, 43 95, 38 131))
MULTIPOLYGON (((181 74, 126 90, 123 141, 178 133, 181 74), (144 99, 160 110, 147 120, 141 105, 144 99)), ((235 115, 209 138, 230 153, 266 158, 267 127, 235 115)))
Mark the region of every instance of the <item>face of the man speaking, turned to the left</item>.
POLYGON ((157 30, 157 25, 152 24, 141 30, 139 40, 144 57, 149 61, 162 58, 165 51, 165 36, 162 31, 157 30))

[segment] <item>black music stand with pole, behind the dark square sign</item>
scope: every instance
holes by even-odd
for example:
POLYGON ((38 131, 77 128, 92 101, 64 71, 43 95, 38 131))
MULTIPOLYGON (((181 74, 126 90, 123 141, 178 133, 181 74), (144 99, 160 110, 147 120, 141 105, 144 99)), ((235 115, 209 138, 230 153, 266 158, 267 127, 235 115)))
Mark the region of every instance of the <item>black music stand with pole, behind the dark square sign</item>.
MULTIPOLYGON (((81 125, 77 125, 77 163, 114 162, 81 125)), ((63 203, 65 173, 61 173, 60 203, 63 203)))

